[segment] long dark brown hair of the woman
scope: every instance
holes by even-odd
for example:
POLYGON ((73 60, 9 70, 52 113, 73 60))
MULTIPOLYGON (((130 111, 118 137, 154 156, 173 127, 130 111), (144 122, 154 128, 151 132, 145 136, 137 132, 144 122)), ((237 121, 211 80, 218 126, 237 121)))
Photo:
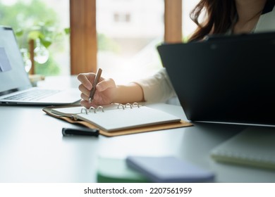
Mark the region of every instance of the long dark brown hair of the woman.
POLYGON ((236 4, 233 0, 201 0, 190 13, 197 29, 189 41, 203 39, 210 33, 224 34, 231 27, 236 14, 236 4), (202 14, 205 17, 200 23, 199 18, 202 14))

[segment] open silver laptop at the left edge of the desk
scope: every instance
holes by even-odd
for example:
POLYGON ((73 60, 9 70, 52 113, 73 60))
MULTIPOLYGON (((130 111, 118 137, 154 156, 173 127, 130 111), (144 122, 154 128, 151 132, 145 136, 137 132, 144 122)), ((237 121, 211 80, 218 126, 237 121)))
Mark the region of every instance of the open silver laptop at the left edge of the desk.
POLYGON ((0 26, 0 105, 63 105, 78 101, 78 89, 32 87, 12 28, 0 26))

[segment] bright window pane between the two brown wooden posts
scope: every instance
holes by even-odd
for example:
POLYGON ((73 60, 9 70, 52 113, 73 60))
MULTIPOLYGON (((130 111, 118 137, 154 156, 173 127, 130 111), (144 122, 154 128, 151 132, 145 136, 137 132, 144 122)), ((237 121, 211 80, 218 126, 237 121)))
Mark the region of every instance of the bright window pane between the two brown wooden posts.
POLYGON ((163 17, 163 0, 98 0, 97 67, 104 76, 124 83, 157 72, 163 17))

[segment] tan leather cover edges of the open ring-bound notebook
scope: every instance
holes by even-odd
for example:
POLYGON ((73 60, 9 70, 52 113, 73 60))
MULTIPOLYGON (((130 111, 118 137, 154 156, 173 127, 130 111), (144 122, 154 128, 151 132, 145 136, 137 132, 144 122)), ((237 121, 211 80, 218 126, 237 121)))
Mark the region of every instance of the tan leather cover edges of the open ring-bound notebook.
MULTIPOLYGON (((53 108, 68 108, 68 107, 75 107, 79 105, 69 105, 69 106, 49 106, 46 108, 43 108, 43 111, 47 113, 48 115, 51 115, 52 117, 59 118, 61 120, 65 120, 66 122, 70 122, 72 124, 80 124, 84 125, 85 127, 89 128, 97 128, 94 125, 90 124, 90 122, 85 122, 82 120, 73 120, 70 117, 65 117, 62 115, 56 115, 51 112, 51 109, 53 108)), ((173 129, 173 128, 179 128, 179 127, 190 127, 193 126, 192 123, 186 122, 184 120, 181 120, 180 122, 171 122, 166 124, 160 124, 160 125, 150 125, 146 127, 137 127, 132 129, 124 129, 116 132, 105 132, 102 129, 99 130, 99 134, 102 134, 104 136, 120 136, 120 135, 126 135, 126 134, 137 134, 142 132, 153 132, 153 131, 159 131, 164 129, 173 129)))

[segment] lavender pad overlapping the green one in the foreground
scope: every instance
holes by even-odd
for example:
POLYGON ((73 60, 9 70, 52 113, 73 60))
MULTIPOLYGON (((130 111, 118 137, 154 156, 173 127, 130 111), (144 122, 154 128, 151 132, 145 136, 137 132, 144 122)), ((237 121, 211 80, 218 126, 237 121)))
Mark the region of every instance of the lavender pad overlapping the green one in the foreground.
POLYGON ((157 183, 212 182, 214 179, 212 172, 173 156, 129 156, 126 158, 126 163, 152 182, 157 183))

